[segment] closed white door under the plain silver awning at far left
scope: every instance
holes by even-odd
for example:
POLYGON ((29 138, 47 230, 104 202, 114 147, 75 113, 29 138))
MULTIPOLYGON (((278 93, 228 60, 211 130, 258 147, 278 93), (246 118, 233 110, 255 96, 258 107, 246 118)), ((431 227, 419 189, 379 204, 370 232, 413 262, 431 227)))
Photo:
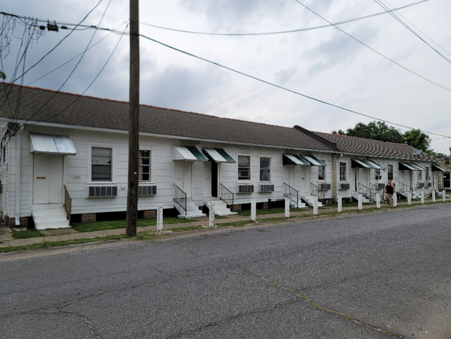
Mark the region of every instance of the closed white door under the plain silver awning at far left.
POLYGON ((62 156, 35 154, 33 204, 62 204, 62 156))

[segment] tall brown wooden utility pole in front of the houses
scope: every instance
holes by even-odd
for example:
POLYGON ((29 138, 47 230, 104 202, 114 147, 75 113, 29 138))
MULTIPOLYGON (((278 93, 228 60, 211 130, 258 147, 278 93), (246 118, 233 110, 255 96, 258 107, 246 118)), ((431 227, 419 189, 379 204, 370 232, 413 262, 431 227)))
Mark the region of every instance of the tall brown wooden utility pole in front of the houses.
POLYGON ((138 222, 139 174, 139 0, 130 0, 130 97, 128 108, 128 192, 126 235, 138 222))

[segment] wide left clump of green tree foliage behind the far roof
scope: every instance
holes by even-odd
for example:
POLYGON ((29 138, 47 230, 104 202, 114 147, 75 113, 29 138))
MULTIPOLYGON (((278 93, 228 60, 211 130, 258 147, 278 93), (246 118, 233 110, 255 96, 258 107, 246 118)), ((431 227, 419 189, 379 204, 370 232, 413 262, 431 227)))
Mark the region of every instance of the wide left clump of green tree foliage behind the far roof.
POLYGON ((332 134, 348 135, 350 137, 386 142, 404 142, 404 137, 402 136, 400 130, 387 126, 385 122, 370 122, 368 125, 363 122, 359 122, 353 129, 348 129, 346 133, 339 129, 338 132, 332 131, 332 134))

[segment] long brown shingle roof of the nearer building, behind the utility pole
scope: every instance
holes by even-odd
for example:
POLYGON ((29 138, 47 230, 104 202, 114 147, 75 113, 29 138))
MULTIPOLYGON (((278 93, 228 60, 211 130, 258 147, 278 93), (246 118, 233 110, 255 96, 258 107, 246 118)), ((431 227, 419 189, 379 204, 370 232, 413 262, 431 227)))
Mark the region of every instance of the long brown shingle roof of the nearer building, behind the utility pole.
MULTIPOLYGON (((11 111, 15 111, 15 103, 20 89, 22 89, 22 99, 17 116, 19 120, 128 131, 127 102, 80 97, 76 94, 19 85, 13 85, 12 91, 8 95, 11 108, 8 105, 0 104, 0 117, 12 117, 11 111), (47 101, 49 104, 46 104, 47 101)), ((0 92, 0 103, 4 102, 5 92, 5 90, 0 92)), ((154 106, 141 105, 139 109, 139 131, 142 133, 240 144, 334 151, 320 140, 289 127, 154 106)))

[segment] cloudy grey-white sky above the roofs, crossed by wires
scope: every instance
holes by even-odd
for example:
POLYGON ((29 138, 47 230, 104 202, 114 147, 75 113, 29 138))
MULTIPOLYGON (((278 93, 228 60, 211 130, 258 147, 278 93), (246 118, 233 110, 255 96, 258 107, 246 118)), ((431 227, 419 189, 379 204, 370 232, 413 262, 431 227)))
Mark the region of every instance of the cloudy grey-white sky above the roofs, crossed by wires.
MULTIPOLYGON (((398 8, 418 0, 383 1, 390 8, 398 8)), ((0 10, 69 25, 81 22, 97 2, 15 0, 3 1, 0 10)), ((237 36, 180 33, 146 25, 237 34, 290 31, 327 24, 311 10, 336 23, 381 13, 384 8, 368 0, 142 0, 140 33, 330 104, 451 136, 451 63, 436 52, 451 60, 451 2, 448 0, 428 0, 395 12, 436 51, 389 14, 339 25, 341 30, 411 72, 334 26, 295 33, 237 36)), ((3 24, 6 19, 3 17, 3 24)), ((127 20, 128 1, 103 0, 83 24, 124 31, 127 20)), ((10 29, 2 31, 2 69, 7 80, 11 80, 17 56, 24 51, 22 47, 19 53, 24 25, 16 21, 15 27, 12 22, 7 26, 10 29), (5 37, 10 38, 9 44, 5 37)), ((58 90, 74 71, 61 90, 81 94, 99 74, 121 38, 121 35, 92 29, 73 31, 49 53, 69 33, 69 30, 45 31, 44 35, 35 37, 27 49, 25 69, 45 57, 26 73, 25 85, 58 90), (78 56, 67 63, 88 46, 92 48, 81 60, 78 56), (44 76, 64 63, 67 65, 44 76)), ((327 133, 346 130, 357 122, 373 121, 145 38, 141 38, 140 47, 142 104, 282 126, 298 124, 327 133)), ((128 36, 124 35, 108 65, 85 94, 128 101, 128 53, 128 36)), ((22 69, 23 63, 20 66, 22 69)), ((449 153, 451 139, 430 136, 435 151, 449 153)))

